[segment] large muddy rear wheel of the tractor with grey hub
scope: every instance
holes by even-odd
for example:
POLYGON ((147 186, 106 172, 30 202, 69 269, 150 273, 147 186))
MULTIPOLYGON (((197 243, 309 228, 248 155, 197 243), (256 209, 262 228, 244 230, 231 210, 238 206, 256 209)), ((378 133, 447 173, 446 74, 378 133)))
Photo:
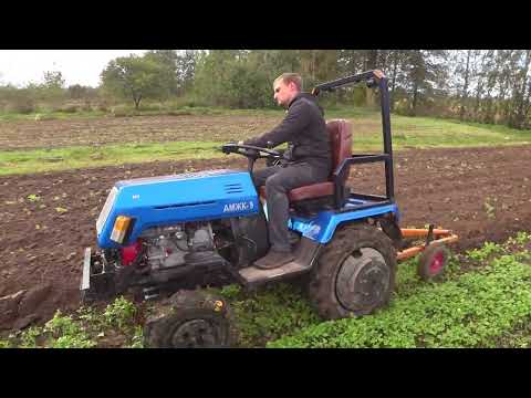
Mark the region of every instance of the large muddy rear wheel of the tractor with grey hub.
POLYGON ((388 303, 395 287, 391 239, 368 224, 336 230, 310 275, 309 294, 325 320, 367 315, 388 303))

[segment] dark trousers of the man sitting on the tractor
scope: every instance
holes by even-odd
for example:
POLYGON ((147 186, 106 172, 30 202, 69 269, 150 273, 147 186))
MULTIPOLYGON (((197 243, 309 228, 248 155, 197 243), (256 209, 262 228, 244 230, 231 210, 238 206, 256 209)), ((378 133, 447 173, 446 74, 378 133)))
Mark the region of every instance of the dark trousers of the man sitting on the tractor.
POLYGON ((268 228, 271 249, 278 252, 290 252, 288 220, 291 189, 324 182, 330 169, 327 165, 310 165, 308 163, 288 164, 285 167, 271 166, 253 172, 254 186, 266 185, 268 201, 268 228))

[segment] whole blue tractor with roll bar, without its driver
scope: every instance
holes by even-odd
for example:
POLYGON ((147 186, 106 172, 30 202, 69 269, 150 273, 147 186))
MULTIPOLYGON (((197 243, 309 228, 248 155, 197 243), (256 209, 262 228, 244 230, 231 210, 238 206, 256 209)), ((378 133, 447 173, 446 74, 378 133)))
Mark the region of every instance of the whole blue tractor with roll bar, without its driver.
POLYGON ((209 170, 118 181, 96 222, 98 251, 85 250, 82 300, 108 300, 129 290, 159 300, 145 325, 152 347, 226 346, 231 342, 227 302, 196 289, 239 283, 248 289, 302 276, 325 320, 369 314, 394 290, 396 250, 402 245, 394 199, 387 78, 369 71, 317 85, 312 94, 364 83, 381 96, 384 151, 352 155, 351 125, 327 122, 333 153, 326 182, 293 189, 290 243, 295 260, 277 269, 252 265, 269 249, 263 187, 253 165, 274 163, 271 148, 226 144, 221 150, 248 158, 248 170, 209 170), (383 163, 386 195, 345 187, 351 166, 383 163), (221 282, 219 282, 221 281, 221 282))

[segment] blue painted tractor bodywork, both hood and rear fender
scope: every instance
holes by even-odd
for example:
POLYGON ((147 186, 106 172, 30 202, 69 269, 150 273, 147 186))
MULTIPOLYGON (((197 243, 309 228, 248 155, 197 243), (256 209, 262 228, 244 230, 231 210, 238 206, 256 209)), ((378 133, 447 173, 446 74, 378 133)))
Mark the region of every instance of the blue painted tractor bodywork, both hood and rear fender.
MULTIPOLYGON (((260 206, 248 171, 221 169, 123 180, 113 187, 96 222, 97 243, 102 249, 127 247, 153 227, 249 217, 258 214, 260 206), (134 220, 123 243, 111 240, 118 216, 134 220)), ((324 244, 343 222, 387 213, 398 219, 396 203, 377 206, 368 199, 350 198, 339 211, 292 214, 288 226, 302 237, 324 244)))

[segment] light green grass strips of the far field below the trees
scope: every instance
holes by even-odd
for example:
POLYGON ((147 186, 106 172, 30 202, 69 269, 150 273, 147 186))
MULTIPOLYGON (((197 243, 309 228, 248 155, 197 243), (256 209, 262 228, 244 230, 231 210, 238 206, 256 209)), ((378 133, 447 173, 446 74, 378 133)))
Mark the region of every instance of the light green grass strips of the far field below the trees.
MULTIPOLYGON (((183 108, 179 112, 190 114, 210 114, 220 116, 249 115, 282 117, 278 109, 219 109, 219 108, 183 108)), ((144 114, 148 114, 145 112, 144 114)), ((152 112, 156 113, 156 112, 152 112)), ((64 118, 82 117, 71 114, 60 114, 64 118)), ((55 113, 50 114, 55 115, 55 113)), ((91 114, 92 115, 92 114, 91 114)), ((100 114, 94 114, 101 117, 100 114)), ((18 115, 20 118, 30 118, 31 115, 18 115)), ((0 121, 2 121, 0 116, 0 121)), ((34 116, 33 116, 34 117, 34 116)), ((59 117, 59 116, 58 116, 59 117)), ((92 117, 92 116, 91 116, 92 117)), ((326 112, 330 118, 347 118, 353 124, 353 150, 381 151, 382 125, 378 112, 364 108, 336 108, 326 112)), ((6 118, 3 118, 4 121, 6 118)), ((127 125, 124 124, 126 128, 127 125)), ((227 126, 225 126, 227 127, 227 126)), ((219 127, 220 129, 222 126, 219 127)), ((227 128, 225 128, 227 130, 227 128)), ((434 147, 478 147, 499 146, 531 143, 530 130, 517 130, 507 126, 480 125, 472 123, 459 123, 449 119, 436 119, 428 117, 407 117, 393 115, 392 132, 394 150, 408 148, 434 148, 434 147)), ((214 135, 214 134, 212 134, 214 135)), ((241 139, 250 136, 243 135, 241 139)), ((216 150, 220 142, 169 142, 169 143, 124 143, 122 145, 98 146, 73 146, 50 149, 31 149, 15 151, 0 151, 0 175, 25 174, 39 171, 64 170, 85 168, 93 166, 111 166, 124 163, 144 163, 154 158, 159 160, 179 159, 206 159, 221 157, 216 150)))

